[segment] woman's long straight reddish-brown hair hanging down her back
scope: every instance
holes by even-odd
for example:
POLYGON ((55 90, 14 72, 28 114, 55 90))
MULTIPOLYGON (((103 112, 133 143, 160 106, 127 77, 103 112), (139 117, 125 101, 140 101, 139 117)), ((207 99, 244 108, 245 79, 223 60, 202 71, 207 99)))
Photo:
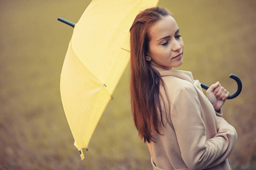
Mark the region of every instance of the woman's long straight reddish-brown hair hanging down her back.
MULTIPOLYGON (((163 16, 169 15, 171 15, 170 12, 165 8, 148 8, 136 16, 130 28, 131 110, 139 138, 144 139, 144 142, 154 141, 152 132, 156 131, 160 134, 159 125, 164 126, 164 111, 160 104, 160 99, 163 99, 163 96, 159 92, 159 87, 160 85, 165 86, 159 72, 153 69, 145 58, 150 41, 148 31, 163 16)), ((166 91, 165 88, 164 91, 166 91)), ((166 110, 165 105, 164 109, 166 110)))

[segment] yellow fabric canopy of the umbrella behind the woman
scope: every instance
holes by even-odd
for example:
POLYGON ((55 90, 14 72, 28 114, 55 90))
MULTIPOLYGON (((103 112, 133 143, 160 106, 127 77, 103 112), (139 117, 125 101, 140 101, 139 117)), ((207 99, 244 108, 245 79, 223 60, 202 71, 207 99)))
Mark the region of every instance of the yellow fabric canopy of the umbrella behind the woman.
POLYGON ((129 28, 158 0, 93 0, 75 25, 61 71, 61 100, 75 146, 88 143, 129 62, 129 28))

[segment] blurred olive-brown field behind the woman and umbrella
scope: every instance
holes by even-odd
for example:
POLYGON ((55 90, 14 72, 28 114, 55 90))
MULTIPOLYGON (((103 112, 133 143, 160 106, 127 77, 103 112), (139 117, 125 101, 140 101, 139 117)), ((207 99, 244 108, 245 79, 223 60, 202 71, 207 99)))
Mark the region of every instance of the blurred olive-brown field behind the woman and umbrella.
MULTIPOLYGON (((122 76, 80 160, 60 99, 61 67, 72 27, 90 1, 0 0, 0 169, 152 169, 130 111, 129 69, 122 76)), ((224 118, 238 132, 233 169, 256 169, 256 1, 170 1, 185 43, 184 64, 194 79, 220 81, 239 97, 224 118)), ((100 50, 97 46, 96 50, 100 50)))

